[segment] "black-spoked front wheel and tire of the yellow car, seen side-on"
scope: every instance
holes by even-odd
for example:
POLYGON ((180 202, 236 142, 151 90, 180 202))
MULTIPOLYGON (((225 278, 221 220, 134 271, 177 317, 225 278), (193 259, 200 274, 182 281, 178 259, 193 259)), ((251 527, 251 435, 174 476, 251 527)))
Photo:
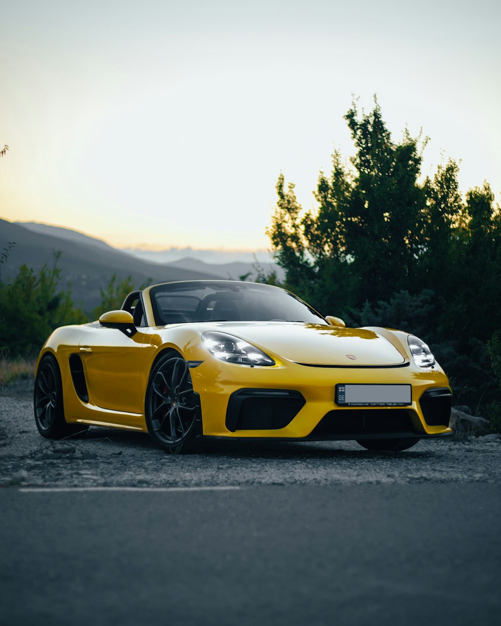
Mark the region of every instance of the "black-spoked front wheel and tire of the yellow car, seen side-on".
POLYGON ((199 395, 193 389, 189 366, 178 352, 167 352, 153 366, 145 416, 148 433, 159 448, 171 454, 199 451, 199 395))

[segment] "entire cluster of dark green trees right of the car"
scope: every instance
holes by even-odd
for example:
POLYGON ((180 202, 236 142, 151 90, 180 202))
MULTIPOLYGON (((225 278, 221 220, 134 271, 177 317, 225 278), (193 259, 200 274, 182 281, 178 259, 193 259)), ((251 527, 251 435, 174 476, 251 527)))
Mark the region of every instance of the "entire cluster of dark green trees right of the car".
POLYGON ((284 175, 267 233, 286 287, 350 324, 423 336, 457 395, 473 406, 497 392, 487 341, 501 327, 501 212, 485 183, 466 194, 458 166, 420 182, 426 141, 391 138, 377 101, 344 117, 356 154, 320 172, 305 212, 284 175))

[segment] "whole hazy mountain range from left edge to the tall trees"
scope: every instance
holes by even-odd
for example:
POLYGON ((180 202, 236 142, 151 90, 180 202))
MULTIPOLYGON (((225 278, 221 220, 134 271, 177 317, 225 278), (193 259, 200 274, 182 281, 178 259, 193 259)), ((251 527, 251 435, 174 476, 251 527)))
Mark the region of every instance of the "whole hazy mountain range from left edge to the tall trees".
MULTIPOLYGON (((254 267, 256 259, 252 252, 193 250, 189 247, 161 252, 117 250, 101 239, 69 228, 0 219, 0 250, 8 241, 16 242, 16 246, 6 263, 0 267, 3 280, 17 275, 22 264, 39 272, 44 264, 53 262, 54 252, 59 251, 62 253, 58 261, 58 267, 62 270, 61 287, 69 282, 73 300, 83 302, 87 312, 91 312, 101 302, 100 290, 108 285, 113 274, 120 278, 131 275, 137 285, 168 280, 239 280, 244 275, 248 275, 247 280, 255 280, 257 277, 254 267), (187 251, 190 253, 188 256, 179 258, 181 252, 187 251), (169 263, 162 260, 169 257, 173 259, 169 263)), ((270 262, 269 258, 266 251, 258 251, 259 269, 265 275, 275 271, 279 280, 282 280, 284 271, 270 262)))

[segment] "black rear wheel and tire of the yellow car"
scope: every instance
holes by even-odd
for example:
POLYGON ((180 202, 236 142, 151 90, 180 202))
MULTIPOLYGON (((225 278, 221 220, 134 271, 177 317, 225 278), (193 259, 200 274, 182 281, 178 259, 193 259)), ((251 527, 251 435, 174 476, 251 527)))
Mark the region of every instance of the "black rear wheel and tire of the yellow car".
POLYGON ((46 354, 41 359, 35 377, 33 411, 36 428, 46 439, 63 439, 84 433, 86 424, 68 424, 63 403, 61 371, 56 358, 46 354))

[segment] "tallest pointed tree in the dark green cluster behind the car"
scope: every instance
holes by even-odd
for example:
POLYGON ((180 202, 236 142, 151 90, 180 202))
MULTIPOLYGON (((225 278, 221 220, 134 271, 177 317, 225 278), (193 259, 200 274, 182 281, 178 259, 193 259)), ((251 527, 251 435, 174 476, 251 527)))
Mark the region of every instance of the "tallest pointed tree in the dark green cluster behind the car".
POLYGON ((416 279, 424 217, 419 140, 406 131, 395 143, 377 102, 359 120, 352 106, 345 119, 357 148, 348 249, 361 278, 357 299, 373 300, 388 294, 389 278, 395 291, 416 279))

